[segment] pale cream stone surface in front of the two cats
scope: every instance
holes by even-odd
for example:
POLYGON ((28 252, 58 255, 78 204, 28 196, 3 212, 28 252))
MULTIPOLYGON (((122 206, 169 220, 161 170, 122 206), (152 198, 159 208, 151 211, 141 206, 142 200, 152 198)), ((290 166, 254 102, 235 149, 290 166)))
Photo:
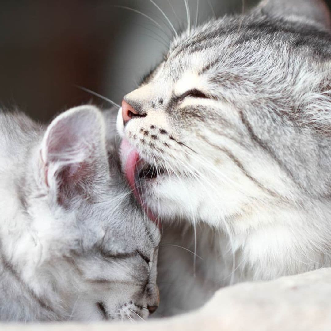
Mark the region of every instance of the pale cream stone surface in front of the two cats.
POLYGON ((5 325, 1 331, 331 330, 331 268, 219 290, 201 309, 139 323, 5 325))

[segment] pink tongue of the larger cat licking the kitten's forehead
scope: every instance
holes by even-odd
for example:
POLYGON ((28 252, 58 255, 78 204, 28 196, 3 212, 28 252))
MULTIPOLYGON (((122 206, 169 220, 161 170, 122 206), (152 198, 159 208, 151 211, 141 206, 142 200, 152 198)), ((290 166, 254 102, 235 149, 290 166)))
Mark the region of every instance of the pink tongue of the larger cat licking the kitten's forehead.
POLYGON ((125 138, 123 138, 121 147, 120 147, 120 151, 121 151, 122 156, 124 156, 124 157, 126 156, 125 165, 124 165, 124 174, 129 182, 131 189, 133 190, 135 197, 137 198, 139 203, 143 206, 143 208, 145 209, 145 212, 147 212, 148 217, 153 222, 157 223, 157 225, 161 228, 161 222, 158 220, 158 217, 156 217, 148 209, 147 205, 142 202, 139 191, 136 187, 134 177, 135 177, 135 172, 136 172, 136 166, 140 160, 137 150, 134 149, 125 138))

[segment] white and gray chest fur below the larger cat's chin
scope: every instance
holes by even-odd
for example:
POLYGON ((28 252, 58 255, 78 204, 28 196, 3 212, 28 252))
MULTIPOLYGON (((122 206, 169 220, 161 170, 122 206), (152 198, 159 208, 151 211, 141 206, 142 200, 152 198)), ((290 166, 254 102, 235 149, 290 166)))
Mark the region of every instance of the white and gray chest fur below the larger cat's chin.
MULTIPOLYGON (((311 221, 313 214, 280 209, 268 215, 261 210, 260 215, 246 215, 246 221, 261 217, 270 224, 242 233, 232 228, 231 236, 209 225, 198 224, 196 234, 184 222, 165 225, 159 255, 159 312, 172 315, 200 307, 217 289, 238 282, 270 280, 331 265, 327 243, 312 244, 302 225, 302 232, 294 231, 294 224, 311 221)), ((319 236, 318 229, 311 231, 319 236)))

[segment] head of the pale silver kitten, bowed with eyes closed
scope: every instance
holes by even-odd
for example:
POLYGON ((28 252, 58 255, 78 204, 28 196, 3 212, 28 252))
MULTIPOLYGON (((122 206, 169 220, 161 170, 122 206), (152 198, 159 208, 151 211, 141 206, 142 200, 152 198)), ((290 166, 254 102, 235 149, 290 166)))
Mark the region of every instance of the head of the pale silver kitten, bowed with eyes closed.
POLYGON ((93 106, 59 115, 31 151, 21 200, 34 244, 21 242, 15 254, 34 252, 24 279, 55 318, 140 319, 158 306, 160 233, 114 158, 93 106))

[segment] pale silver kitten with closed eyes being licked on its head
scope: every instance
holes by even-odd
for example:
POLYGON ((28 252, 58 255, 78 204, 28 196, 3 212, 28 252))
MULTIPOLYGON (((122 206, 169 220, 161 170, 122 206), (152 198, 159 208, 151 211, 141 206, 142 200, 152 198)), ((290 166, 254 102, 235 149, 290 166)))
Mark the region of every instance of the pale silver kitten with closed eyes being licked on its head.
POLYGON ((0 113, 0 320, 146 318, 158 306, 159 230, 80 106, 47 128, 0 113))

